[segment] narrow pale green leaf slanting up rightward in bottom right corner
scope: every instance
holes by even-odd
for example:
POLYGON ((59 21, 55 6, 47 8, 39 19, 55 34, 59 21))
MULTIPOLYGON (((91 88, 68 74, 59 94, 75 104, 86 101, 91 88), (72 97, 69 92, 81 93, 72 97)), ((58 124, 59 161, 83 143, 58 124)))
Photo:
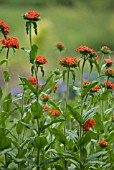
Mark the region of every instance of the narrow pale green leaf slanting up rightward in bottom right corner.
POLYGON ((100 151, 98 153, 92 154, 85 160, 85 163, 88 163, 88 162, 92 161, 93 159, 96 159, 102 155, 105 155, 106 153, 107 153, 107 151, 100 151))

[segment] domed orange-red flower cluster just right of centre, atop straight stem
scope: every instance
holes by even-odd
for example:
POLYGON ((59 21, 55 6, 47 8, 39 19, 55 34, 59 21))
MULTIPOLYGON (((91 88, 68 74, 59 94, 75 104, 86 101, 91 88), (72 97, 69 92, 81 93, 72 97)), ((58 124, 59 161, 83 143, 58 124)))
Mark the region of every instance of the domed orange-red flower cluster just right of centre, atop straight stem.
POLYGON ((59 64, 62 65, 63 67, 77 67, 78 65, 78 59, 77 58, 72 58, 72 57, 66 57, 62 58, 59 60, 59 64))

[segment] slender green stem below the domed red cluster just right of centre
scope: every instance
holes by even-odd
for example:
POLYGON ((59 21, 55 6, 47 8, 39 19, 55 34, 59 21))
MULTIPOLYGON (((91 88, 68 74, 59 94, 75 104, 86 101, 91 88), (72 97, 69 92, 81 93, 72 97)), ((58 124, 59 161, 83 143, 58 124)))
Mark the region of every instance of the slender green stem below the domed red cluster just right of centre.
MULTIPOLYGON (((70 67, 67 70, 67 92, 66 92, 66 100, 65 100, 65 122, 64 122, 64 135, 66 135, 66 124, 67 124, 67 105, 68 105, 68 96, 69 96, 69 74, 70 74, 70 67)), ((64 152, 66 151, 66 144, 64 144, 64 152)), ((66 161, 65 161, 65 168, 66 168, 66 161)))

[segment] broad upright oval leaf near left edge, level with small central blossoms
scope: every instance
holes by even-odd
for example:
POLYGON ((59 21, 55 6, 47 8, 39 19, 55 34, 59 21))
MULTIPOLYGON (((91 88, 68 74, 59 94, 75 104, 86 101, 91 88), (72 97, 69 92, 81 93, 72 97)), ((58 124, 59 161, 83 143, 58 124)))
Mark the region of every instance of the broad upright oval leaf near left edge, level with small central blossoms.
POLYGON ((11 93, 9 93, 3 100, 3 110, 5 112, 9 112, 11 110, 12 107, 12 96, 11 93))

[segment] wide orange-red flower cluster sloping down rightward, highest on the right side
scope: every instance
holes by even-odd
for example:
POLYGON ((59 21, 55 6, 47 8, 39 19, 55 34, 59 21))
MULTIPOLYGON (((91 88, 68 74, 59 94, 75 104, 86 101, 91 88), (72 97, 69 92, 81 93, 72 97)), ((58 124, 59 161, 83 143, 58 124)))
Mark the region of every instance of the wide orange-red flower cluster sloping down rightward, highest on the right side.
POLYGON ((95 59, 98 60, 98 54, 88 46, 80 46, 76 48, 76 51, 79 51, 80 54, 88 56, 88 59, 95 59))

